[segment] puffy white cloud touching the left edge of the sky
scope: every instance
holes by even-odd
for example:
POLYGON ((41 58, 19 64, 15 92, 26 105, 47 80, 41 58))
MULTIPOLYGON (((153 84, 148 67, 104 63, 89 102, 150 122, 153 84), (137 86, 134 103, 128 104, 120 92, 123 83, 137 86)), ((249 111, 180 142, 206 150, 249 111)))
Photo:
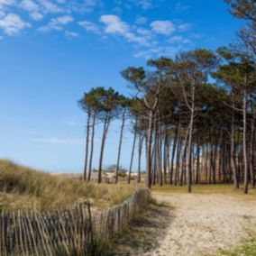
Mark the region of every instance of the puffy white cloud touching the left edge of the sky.
POLYGON ((2 20, 0 20, 0 28, 2 28, 5 34, 8 35, 16 34, 30 26, 30 23, 23 22, 21 17, 16 14, 7 14, 2 20))

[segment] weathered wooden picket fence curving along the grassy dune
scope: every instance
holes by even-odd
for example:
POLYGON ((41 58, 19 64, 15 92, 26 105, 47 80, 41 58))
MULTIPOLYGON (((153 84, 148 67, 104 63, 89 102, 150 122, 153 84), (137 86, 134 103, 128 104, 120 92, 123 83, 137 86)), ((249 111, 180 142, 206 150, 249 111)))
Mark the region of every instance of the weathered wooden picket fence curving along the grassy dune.
POLYGON ((95 255, 98 241, 122 230, 147 204, 149 190, 141 188, 121 205, 91 215, 90 205, 39 213, 0 212, 0 255, 95 255))

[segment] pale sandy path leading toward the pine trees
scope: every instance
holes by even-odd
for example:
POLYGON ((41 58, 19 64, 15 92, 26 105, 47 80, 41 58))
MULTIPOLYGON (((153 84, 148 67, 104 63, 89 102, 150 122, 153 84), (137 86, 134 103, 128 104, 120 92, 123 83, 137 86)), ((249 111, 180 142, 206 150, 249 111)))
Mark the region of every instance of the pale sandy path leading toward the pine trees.
POLYGON ((228 249, 245 236, 244 227, 256 227, 256 199, 243 202, 228 195, 162 195, 172 221, 157 250, 143 255, 210 255, 217 248, 228 249))

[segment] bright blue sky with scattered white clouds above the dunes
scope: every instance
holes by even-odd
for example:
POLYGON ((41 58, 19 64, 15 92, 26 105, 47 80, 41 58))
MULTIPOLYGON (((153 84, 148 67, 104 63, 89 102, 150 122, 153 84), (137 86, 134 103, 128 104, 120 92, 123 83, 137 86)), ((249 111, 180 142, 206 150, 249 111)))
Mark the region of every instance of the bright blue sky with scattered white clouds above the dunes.
MULTIPOLYGON (((121 70, 181 50, 215 50, 241 26, 222 0, 0 0, 0 158, 81 171, 83 92, 104 86, 132 94, 121 70)), ((116 161, 119 125, 110 127, 105 165, 116 161)), ((132 144, 126 130, 124 167, 132 144)))

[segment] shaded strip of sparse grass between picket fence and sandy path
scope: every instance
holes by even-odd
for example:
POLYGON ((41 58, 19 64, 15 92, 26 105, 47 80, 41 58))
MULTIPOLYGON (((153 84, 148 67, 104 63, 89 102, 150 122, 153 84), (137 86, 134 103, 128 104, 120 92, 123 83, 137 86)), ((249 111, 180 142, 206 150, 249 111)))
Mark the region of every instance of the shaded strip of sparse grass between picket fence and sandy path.
POLYGON ((133 217, 123 232, 114 235, 105 247, 104 255, 141 255, 157 247, 171 222, 171 207, 151 199, 149 205, 133 217))

